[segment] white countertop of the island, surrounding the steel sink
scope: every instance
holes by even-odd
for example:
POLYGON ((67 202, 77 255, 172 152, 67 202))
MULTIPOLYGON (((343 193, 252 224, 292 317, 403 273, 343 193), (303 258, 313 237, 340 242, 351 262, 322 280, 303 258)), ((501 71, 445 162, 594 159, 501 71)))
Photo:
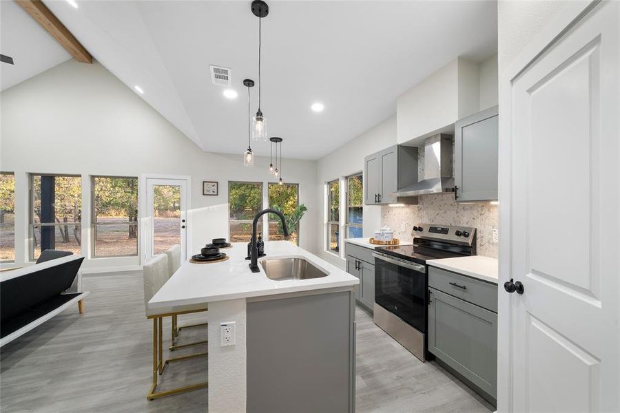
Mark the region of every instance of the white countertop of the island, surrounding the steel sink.
POLYGON ((260 273, 252 273, 249 269, 247 243, 234 243, 231 248, 220 250, 229 255, 229 260, 214 264, 194 264, 189 261, 180 268, 160 288, 149 301, 149 308, 169 306, 185 306, 204 304, 212 301, 225 301, 264 295, 297 293, 300 291, 318 290, 360 284, 357 277, 329 264, 294 246, 288 241, 265 242, 267 257, 258 259, 260 273), (313 279, 291 279, 275 281, 267 278, 260 262, 273 258, 301 257, 313 265, 327 271, 327 277, 313 279))

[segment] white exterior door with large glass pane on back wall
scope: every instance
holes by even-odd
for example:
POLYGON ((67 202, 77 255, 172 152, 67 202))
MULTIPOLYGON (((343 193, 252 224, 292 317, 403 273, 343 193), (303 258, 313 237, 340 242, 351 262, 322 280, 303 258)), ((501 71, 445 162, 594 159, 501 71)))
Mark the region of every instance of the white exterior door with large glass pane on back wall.
POLYGON ((147 178, 145 253, 147 260, 180 244, 187 257, 187 180, 147 178))

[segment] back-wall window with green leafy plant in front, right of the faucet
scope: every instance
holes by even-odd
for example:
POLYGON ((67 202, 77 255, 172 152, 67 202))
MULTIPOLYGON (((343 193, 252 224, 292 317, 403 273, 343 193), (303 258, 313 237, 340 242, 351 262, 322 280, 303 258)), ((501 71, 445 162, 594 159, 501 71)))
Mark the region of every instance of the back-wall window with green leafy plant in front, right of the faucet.
MULTIPOLYGON (((270 183, 269 208, 282 212, 287 219, 289 240, 299 245, 299 220, 307 211, 305 205, 299 204, 299 184, 270 183)), ((273 213, 269 214, 269 241, 284 240, 284 232, 280 219, 273 213)))

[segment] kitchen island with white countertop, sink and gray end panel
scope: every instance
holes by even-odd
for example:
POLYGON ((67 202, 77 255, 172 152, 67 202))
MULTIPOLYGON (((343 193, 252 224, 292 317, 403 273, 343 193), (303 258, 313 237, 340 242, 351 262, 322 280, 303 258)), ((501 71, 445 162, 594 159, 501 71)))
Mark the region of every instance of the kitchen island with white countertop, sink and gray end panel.
POLYGON ((259 273, 247 244, 222 252, 229 260, 185 262, 149 301, 209 304, 209 410, 353 412, 358 278, 288 241, 265 242, 259 273), (302 266, 311 277, 290 279, 302 266), (233 323, 222 346, 220 326, 233 323))

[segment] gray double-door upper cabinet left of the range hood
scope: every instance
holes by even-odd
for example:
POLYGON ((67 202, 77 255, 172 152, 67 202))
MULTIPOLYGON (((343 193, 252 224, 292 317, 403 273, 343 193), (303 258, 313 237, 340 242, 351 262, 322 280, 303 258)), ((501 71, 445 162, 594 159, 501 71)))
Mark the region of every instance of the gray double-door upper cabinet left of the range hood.
POLYGON ((393 145, 364 158, 366 205, 393 204, 397 202, 397 198, 391 194, 415 182, 417 182, 417 147, 393 145))

